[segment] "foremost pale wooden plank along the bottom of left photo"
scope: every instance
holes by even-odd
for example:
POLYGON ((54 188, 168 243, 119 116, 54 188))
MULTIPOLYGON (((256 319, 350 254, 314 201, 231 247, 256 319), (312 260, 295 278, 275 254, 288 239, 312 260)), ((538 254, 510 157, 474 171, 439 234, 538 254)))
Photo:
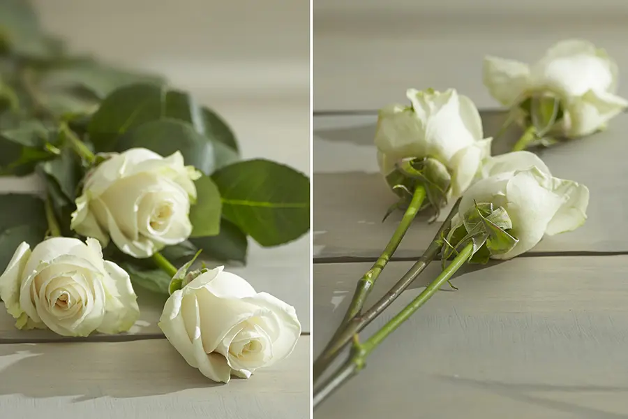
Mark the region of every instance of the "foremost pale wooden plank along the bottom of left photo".
POLYGON ((309 337, 250 379, 216 384, 166 339, 0 345, 3 418, 309 418, 309 337))

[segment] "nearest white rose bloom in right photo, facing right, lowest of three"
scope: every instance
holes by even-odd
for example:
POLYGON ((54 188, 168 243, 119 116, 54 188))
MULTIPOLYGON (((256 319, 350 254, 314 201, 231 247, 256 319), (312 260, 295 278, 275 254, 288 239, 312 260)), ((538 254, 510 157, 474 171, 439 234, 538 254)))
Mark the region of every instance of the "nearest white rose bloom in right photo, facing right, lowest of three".
POLYGON ((587 216, 589 190, 570 180, 552 177, 547 166, 530 152, 512 152, 483 162, 481 177, 465 192, 456 225, 475 203, 493 203, 510 216, 509 234, 519 241, 495 259, 514 258, 536 246, 544 235, 581 226, 587 216))

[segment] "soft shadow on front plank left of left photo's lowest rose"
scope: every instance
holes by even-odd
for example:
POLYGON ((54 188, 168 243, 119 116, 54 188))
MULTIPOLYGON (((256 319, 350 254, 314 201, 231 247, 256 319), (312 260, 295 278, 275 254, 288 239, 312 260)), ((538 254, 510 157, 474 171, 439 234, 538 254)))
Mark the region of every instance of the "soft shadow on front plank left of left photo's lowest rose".
POLYGON ((166 339, 119 343, 0 345, 0 395, 145 397, 214 383, 190 367, 166 339))

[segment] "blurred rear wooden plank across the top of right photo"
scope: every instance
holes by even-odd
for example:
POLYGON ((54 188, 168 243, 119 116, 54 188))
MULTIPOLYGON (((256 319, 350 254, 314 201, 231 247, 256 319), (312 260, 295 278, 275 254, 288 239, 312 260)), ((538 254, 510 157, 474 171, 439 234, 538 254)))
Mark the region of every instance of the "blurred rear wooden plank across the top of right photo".
POLYGON ((628 96, 625 1, 578 1, 578 6, 568 0, 318 3, 315 110, 377 109, 403 100, 408 87, 455 87, 481 108, 497 108, 482 84, 484 56, 533 63, 566 38, 604 47, 620 68, 619 93, 628 96))

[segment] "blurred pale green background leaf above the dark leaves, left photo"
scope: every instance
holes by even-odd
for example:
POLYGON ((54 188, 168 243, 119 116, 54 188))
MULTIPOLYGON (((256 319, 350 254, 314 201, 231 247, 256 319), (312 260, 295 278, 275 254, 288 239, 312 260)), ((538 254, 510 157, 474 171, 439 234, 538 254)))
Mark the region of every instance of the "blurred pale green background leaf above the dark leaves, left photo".
POLYGON ((140 82, 163 84, 163 80, 154 75, 123 71, 90 58, 78 58, 48 68, 40 78, 40 88, 44 91, 84 89, 103 99, 120 87, 140 82))

